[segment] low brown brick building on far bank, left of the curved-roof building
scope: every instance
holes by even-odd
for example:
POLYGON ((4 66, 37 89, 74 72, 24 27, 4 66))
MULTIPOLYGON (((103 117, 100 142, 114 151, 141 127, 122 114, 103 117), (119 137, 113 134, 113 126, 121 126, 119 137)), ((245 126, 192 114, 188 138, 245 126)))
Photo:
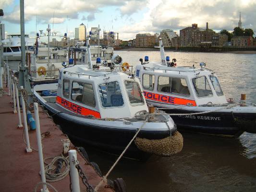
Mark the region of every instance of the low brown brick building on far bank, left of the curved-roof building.
POLYGON ((155 36, 152 36, 149 33, 137 34, 136 35, 136 47, 154 47, 155 45, 155 36))

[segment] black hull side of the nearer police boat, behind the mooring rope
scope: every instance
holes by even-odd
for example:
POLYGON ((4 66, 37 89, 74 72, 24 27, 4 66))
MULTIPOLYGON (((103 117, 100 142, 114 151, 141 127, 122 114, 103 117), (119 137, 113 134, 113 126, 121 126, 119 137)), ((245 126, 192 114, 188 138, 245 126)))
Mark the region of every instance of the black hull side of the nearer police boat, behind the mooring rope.
MULTIPOLYGON (((83 146, 85 149, 87 146, 92 146, 111 154, 120 155, 137 131, 136 129, 110 129, 104 126, 82 123, 75 119, 67 118, 64 113, 54 110, 45 103, 42 104, 52 115, 55 123, 61 126, 61 131, 67 134, 74 144, 83 146)), ((120 123, 122 124, 123 122, 120 123)), ((170 136, 169 130, 161 132, 141 130, 138 134, 138 137, 147 139, 162 139, 168 136, 170 136)), ((145 161, 151 155, 139 150, 133 142, 124 157, 145 161)))

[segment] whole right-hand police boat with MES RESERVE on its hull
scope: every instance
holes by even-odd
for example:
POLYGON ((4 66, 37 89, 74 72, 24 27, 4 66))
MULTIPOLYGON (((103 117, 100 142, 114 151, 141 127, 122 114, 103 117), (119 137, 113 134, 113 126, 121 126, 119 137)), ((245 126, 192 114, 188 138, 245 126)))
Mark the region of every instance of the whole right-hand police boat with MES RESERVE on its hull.
POLYGON ((243 132, 256 133, 256 105, 227 100, 215 72, 201 68, 181 67, 176 60, 165 58, 159 40, 161 61, 145 57, 135 68, 146 102, 171 115, 178 130, 219 136, 239 137, 243 132))

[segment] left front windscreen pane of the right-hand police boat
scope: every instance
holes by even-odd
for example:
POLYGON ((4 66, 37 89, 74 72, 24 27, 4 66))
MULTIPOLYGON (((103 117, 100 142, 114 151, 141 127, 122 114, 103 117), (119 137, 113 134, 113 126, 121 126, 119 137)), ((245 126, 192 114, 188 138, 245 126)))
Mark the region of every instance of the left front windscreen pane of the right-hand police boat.
POLYGON ((195 88, 195 93, 198 97, 212 96, 212 91, 206 76, 194 78, 192 79, 192 82, 195 88))

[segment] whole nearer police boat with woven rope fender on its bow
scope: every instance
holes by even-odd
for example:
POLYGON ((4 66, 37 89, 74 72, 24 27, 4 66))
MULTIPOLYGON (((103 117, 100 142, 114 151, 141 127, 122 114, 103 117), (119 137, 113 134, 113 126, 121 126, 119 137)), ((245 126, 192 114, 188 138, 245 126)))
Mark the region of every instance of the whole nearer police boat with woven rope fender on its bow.
POLYGON ((125 157, 147 159, 182 150, 183 137, 173 120, 148 113, 133 74, 89 62, 61 69, 58 84, 35 85, 33 93, 75 144, 120 155, 141 129, 125 157), (56 88, 57 96, 42 96, 43 90, 56 88))

